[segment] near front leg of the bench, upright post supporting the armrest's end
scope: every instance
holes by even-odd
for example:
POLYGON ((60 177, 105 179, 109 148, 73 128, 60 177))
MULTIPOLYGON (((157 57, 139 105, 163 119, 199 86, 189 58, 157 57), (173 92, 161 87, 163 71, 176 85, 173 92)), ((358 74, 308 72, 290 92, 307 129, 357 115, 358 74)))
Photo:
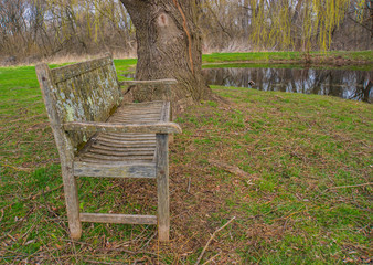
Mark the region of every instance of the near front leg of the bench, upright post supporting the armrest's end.
POLYGON ((157 134, 158 236, 161 242, 167 242, 170 237, 168 147, 169 135, 157 134))

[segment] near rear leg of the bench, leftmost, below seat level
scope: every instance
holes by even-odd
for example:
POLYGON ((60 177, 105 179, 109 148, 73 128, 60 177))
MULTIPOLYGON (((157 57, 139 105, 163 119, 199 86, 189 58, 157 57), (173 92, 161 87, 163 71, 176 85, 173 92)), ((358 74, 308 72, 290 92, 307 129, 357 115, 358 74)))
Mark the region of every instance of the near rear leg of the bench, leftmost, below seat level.
POLYGON ((72 167, 61 167, 64 182, 70 235, 73 240, 78 240, 82 236, 82 222, 79 218, 79 202, 77 198, 76 180, 73 174, 72 167))

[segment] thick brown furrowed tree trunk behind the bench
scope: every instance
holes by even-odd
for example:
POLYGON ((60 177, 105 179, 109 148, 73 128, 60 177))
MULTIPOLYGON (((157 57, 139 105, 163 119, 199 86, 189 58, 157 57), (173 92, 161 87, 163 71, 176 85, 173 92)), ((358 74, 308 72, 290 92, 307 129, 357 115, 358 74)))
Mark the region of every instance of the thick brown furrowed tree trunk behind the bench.
POLYGON ((139 102, 169 99, 173 110, 212 96, 201 74, 198 0, 121 0, 136 28, 136 80, 175 78, 178 85, 135 87, 139 102))

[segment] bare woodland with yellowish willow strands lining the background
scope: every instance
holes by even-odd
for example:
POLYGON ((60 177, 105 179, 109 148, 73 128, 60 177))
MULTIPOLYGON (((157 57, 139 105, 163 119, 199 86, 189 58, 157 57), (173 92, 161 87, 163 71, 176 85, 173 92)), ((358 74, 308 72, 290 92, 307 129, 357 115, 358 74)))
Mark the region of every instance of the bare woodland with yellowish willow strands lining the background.
MULTIPOLYGON (((200 0, 203 51, 370 50, 372 0, 200 0)), ((0 60, 136 52, 118 0, 0 0, 0 60)))

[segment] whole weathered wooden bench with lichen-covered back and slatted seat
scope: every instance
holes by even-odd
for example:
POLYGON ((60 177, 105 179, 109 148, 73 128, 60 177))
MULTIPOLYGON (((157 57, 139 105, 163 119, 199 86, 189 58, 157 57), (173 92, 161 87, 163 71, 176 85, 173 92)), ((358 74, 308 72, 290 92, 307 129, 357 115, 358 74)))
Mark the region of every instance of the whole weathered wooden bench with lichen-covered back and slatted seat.
POLYGON ((121 104, 110 56, 52 70, 39 64, 36 75, 60 153, 71 236, 81 237, 82 222, 158 224, 159 240, 168 241, 168 137, 181 131, 170 123, 170 104, 121 104), (76 177, 157 178, 158 215, 79 212, 76 177))

